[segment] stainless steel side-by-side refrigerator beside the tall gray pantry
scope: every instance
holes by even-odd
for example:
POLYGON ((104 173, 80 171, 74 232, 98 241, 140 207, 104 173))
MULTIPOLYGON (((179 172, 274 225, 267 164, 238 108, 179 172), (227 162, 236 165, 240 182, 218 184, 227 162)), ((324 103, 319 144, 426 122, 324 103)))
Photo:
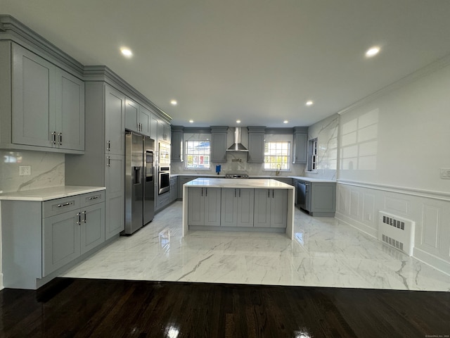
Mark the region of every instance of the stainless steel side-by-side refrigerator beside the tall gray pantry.
POLYGON ((155 140, 125 133, 125 230, 132 234, 155 215, 155 140))

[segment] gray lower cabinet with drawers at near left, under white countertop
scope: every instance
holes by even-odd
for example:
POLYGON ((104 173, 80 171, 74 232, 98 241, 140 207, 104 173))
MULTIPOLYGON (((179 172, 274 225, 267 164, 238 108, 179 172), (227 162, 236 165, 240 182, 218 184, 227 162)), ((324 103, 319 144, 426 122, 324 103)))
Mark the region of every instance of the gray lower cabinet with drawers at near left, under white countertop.
POLYGON ((1 223, 4 287, 37 289, 38 280, 105 242, 105 192, 2 201, 1 223))

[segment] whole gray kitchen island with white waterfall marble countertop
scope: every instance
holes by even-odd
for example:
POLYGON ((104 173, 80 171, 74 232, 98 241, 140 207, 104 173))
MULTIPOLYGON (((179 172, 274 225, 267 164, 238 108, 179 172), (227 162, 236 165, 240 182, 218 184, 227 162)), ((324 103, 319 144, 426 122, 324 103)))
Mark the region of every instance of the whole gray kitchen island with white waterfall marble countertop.
POLYGON ((295 187, 276 180, 197 178, 183 184, 189 230, 282 232, 293 239, 295 187))

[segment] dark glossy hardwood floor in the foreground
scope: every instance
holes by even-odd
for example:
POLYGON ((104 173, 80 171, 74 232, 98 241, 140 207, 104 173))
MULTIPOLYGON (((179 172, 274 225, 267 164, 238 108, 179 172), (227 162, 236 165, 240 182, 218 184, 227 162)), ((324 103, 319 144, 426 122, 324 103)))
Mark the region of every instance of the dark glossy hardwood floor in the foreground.
POLYGON ((0 337, 449 337, 450 293, 57 278, 0 292, 0 337))

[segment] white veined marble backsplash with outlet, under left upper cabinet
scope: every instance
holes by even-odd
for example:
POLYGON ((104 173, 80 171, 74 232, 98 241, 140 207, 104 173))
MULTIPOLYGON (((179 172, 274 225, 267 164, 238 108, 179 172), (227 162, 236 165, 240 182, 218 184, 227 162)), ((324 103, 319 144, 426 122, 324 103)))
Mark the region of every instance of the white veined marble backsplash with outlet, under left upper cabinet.
POLYGON ((43 151, 0 151, 0 191, 58 187, 64 185, 64 154, 43 151), (20 165, 30 165, 30 175, 19 175, 20 165))

